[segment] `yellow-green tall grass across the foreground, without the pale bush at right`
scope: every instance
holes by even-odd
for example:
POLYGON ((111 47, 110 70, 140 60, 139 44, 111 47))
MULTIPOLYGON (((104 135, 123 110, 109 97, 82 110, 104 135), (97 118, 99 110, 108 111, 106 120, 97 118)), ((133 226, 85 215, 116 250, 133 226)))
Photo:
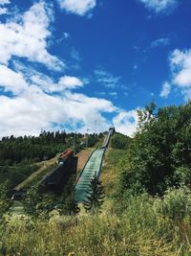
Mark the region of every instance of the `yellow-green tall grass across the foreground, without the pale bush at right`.
MULTIPOLYGON (((191 236, 189 221, 187 237, 191 236)), ((1 226, 1 255, 175 256, 190 255, 179 227, 157 211, 147 195, 129 198, 122 214, 78 217, 54 214, 49 221, 8 218, 1 226)))

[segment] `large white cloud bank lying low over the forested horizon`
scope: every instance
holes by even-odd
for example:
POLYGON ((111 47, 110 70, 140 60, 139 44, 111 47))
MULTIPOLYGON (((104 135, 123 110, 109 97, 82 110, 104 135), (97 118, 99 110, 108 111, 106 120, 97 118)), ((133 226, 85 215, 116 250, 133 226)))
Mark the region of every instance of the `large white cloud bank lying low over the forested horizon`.
POLYGON ((105 99, 93 98, 72 90, 83 86, 83 80, 62 77, 58 82, 39 72, 13 71, 0 66, 0 84, 14 97, 0 96, 0 137, 7 135, 36 135, 41 128, 54 127, 86 132, 107 130, 112 123, 105 113, 117 114, 113 123, 118 131, 128 135, 136 130, 136 110, 126 112, 105 99), (30 75, 33 76, 30 78, 30 75), (29 77, 28 77, 29 75, 29 77), (35 76, 34 76, 35 75, 35 76), (50 94, 60 91, 62 93, 50 94), (135 119, 135 120, 134 120, 135 119))

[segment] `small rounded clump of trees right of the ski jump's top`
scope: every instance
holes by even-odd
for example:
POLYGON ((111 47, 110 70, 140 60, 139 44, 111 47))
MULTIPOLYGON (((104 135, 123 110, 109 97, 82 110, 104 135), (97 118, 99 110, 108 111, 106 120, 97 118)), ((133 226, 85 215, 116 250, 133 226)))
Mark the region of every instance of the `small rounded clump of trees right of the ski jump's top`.
POLYGON ((129 148, 131 138, 121 133, 116 133, 111 140, 111 147, 117 150, 126 150, 129 148))

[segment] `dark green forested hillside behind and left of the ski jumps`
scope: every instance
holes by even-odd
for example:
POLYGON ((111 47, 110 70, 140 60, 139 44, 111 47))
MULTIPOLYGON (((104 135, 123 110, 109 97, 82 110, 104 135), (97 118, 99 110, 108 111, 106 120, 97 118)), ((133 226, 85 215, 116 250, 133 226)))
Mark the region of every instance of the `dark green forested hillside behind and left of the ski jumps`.
MULTIPOLYGON (((103 133, 90 134, 89 146, 93 147, 101 136, 103 133)), ((36 137, 3 137, 0 141, 0 183, 7 182, 12 189, 42 166, 43 163, 36 164, 37 162, 49 160, 56 153, 73 148, 74 138, 77 152, 81 150, 84 139, 84 135, 80 133, 42 131, 36 137)), ((37 178, 39 179, 39 175, 37 178)))

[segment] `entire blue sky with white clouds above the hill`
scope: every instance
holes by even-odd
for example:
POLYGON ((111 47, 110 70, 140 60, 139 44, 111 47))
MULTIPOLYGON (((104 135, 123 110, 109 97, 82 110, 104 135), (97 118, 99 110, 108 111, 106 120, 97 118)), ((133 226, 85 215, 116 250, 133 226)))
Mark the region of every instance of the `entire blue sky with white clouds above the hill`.
POLYGON ((0 137, 132 136, 191 99, 190 0, 0 0, 0 137))

